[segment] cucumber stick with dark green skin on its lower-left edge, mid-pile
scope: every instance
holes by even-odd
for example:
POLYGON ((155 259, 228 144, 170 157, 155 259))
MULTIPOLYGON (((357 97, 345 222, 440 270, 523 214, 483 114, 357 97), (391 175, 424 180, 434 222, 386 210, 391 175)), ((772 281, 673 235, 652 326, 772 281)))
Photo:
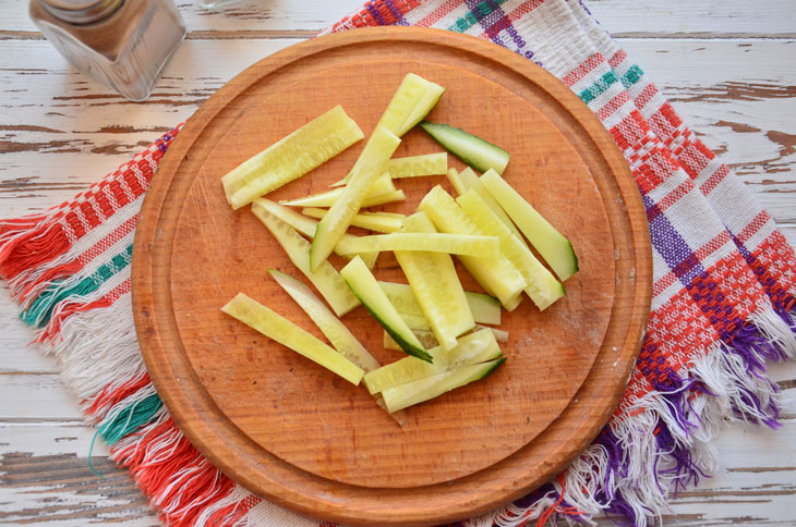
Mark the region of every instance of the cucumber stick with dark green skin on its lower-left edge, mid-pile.
POLYGON ((423 350, 423 345, 414 336, 412 330, 407 327, 393 304, 389 303, 387 295, 378 286, 378 282, 367 269, 367 266, 364 265, 362 258, 357 257, 349 261, 342 268, 340 274, 353 294, 365 306, 365 309, 406 353, 431 363, 431 355, 423 350))

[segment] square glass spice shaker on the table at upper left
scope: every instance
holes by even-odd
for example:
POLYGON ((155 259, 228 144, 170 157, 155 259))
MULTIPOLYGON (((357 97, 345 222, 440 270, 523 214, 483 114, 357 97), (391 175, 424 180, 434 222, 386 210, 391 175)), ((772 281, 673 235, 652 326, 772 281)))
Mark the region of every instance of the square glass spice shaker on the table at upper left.
POLYGON ((185 37, 172 0, 31 0, 31 19, 77 70, 144 100, 185 37))

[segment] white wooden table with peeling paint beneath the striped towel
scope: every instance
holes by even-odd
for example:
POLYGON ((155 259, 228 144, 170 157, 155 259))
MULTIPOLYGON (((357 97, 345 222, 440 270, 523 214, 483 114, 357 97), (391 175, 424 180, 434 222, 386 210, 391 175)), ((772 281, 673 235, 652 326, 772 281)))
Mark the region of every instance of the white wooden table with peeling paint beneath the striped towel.
MULTIPOLYGON (((0 217, 69 199, 190 117, 245 66, 312 36, 360 1, 261 0, 209 13, 180 0, 188 40, 153 96, 133 103, 70 68, 27 19, 27 2, 0 0, 0 217)), ((796 2, 592 0, 589 7, 795 244, 796 2)), ((81 425, 51 361, 26 347, 32 338, 3 289, 0 525, 158 525, 101 446, 94 465, 108 479, 89 471, 94 431, 81 425)), ((771 375, 783 389, 783 427, 726 427, 715 441, 721 471, 675 499, 664 525, 796 525, 796 365, 773 366, 771 375)))

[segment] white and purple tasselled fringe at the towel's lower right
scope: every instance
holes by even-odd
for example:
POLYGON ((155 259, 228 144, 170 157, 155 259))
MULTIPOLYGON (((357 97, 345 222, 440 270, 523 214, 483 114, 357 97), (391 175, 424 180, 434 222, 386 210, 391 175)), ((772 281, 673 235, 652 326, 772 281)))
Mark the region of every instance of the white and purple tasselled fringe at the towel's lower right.
POLYGON ((717 470, 712 440, 725 421, 779 426, 779 390, 763 372, 767 360, 792 356, 794 338, 772 309, 752 315, 729 343, 684 368, 674 390, 625 403, 627 417, 612 421, 562 481, 465 525, 519 527, 551 507, 552 525, 596 525, 601 513, 637 527, 661 523, 670 493, 717 470))

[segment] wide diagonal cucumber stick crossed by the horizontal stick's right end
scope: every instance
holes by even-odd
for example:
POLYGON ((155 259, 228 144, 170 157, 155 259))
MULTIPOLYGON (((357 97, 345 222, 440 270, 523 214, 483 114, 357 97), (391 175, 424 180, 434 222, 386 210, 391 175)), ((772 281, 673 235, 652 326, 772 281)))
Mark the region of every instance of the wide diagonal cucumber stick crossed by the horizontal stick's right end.
MULTIPOLYGON (((420 201, 420 209, 442 232, 484 234, 439 185, 432 188, 420 201)), ((504 305, 527 286, 526 279, 522 278, 519 270, 503 255, 492 258, 474 256, 459 256, 458 258, 481 286, 497 296, 504 305)))

